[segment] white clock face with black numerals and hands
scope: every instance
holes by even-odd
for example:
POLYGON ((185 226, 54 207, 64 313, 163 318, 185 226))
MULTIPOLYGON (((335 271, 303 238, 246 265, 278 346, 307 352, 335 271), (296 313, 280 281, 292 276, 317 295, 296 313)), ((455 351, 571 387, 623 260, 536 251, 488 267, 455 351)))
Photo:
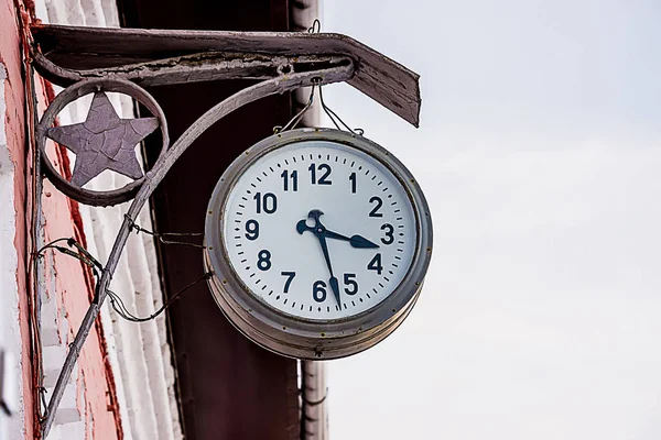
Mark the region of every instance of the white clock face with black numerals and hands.
POLYGON ((224 212, 223 241, 238 277, 272 308, 308 320, 347 318, 384 300, 418 241, 397 177, 330 141, 294 142, 260 157, 224 212))

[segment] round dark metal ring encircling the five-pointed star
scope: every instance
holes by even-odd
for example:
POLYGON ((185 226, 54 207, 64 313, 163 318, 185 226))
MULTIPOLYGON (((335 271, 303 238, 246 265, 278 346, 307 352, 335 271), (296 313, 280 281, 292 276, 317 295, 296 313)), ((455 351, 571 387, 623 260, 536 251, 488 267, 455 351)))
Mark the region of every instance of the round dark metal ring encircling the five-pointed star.
POLYGON ((95 191, 72 185, 57 173, 55 166, 46 155, 46 131, 53 127, 57 114, 59 114, 62 109, 68 103, 98 90, 128 95, 143 105, 159 120, 159 128, 163 138, 163 146, 159 155, 159 160, 161 160, 170 145, 165 114, 156 100, 148 94, 147 90, 133 82, 121 79, 86 79, 64 89, 55 97, 53 102, 51 102, 36 127, 36 147, 41 152, 46 176, 58 190, 72 199, 85 205, 112 206, 131 200, 136 197, 138 190, 144 184, 144 176, 118 189, 95 191))

